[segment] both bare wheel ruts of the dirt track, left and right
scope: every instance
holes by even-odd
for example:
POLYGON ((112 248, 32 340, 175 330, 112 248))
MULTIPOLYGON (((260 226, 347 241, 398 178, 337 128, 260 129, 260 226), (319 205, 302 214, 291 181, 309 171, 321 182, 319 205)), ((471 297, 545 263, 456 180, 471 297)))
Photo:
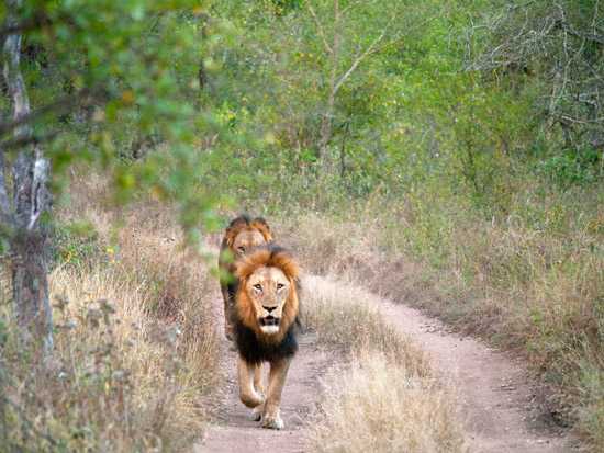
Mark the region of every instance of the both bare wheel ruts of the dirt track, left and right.
MULTIPOLYGON (((306 282, 313 287, 309 276, 306 282)), ((367 294, 383 315, 401 331, 417 341, 430 354, 434 366, 457 392, 459 414, 466 421, 471 452, 569 452, 570 441, 535 423, 533 387, 523 366, 504 353, 481 342, 447 330, 418 310, 395 305, 367 294)), ((333 359, 314 342, 302 339, 283 392, 283 431, 264 430, 247 418, 248 410, 238 401, 235 378, 235 353, 225 348, 224 366, 227 385, 217 411, 217 422, 197 452, 257 452, 270 446, 275 452, 306 452, 304 422, 320 397, 320 376, 333 359)))

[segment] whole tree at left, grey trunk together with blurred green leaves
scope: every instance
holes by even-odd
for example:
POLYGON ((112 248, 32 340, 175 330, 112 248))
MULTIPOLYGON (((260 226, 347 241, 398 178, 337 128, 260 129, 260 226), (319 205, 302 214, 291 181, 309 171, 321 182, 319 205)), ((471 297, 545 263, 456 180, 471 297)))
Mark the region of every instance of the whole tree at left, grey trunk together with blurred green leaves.
POLYGON ((122 202, 153 188, 180 206, 190 238, 211 218, 193 184, 201 156, 191 132, 212 127, 193 94, 203 8, 188 0, 7 0, 0 12, 10 109, 2 106, 12 116, 0 123, 1 233, 19 325, 24 338, 42 340, 49 352, 51 193, 60 192, 68 168, 81 160, 103 166, 122 202), (24 54, 24 39, 37 49, 33 55, 24 54), (40 105, 31 109, 30 99, 40 105), (124 160, 124 144, 150 133, 166 149, 139 165, 124 160))

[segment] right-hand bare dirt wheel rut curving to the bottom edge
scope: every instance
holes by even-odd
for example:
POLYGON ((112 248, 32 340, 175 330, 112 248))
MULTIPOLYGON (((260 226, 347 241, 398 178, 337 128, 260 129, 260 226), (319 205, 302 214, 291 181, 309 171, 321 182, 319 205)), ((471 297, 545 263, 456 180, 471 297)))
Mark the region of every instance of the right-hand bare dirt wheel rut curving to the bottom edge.
POLYGON ((534 387, 518 360, 470 338, 450 333, 421 312, 380 301, 380 309, 433 359, 457 393, 470 451, 559 453, 571 441, 543 426, 534 387))

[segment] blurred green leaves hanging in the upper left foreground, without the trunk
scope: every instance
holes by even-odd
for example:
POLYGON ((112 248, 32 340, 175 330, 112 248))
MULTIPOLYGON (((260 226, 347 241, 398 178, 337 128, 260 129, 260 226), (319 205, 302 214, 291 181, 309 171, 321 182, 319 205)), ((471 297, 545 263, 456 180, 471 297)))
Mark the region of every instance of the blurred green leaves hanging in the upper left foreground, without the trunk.
POLYGON ((92 162, 113 172, 120 202, 153 189, 181 206, 188 229, 208 219, 205 201, 182 190, 199 178, 195 132, 216 126, 198 100, 199 65, 211 47, 203 11, 186 0, 25 2, 20 22, 37 26, 25 34, 24 70, 55 192, 70 166, 92 162), (164 152, 132 165, 158 144, 164 152))

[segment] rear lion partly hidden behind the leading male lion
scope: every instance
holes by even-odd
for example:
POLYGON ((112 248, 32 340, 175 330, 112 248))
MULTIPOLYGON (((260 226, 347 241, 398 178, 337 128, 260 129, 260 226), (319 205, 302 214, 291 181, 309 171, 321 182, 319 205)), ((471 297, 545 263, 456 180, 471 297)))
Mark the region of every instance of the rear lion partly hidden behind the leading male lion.
POLYGON ((228 282, 234 278, 235 261, 254 247, 272 241, 272 233, 262 217, 251 219, 242 214, 231 220, 224 231, 219 256, 219 269, 221 273, 221 292, 224 299, 224 335, 233 340, 233 326, 231 312, 233 307, 233 294, 228 294, 228 282))

